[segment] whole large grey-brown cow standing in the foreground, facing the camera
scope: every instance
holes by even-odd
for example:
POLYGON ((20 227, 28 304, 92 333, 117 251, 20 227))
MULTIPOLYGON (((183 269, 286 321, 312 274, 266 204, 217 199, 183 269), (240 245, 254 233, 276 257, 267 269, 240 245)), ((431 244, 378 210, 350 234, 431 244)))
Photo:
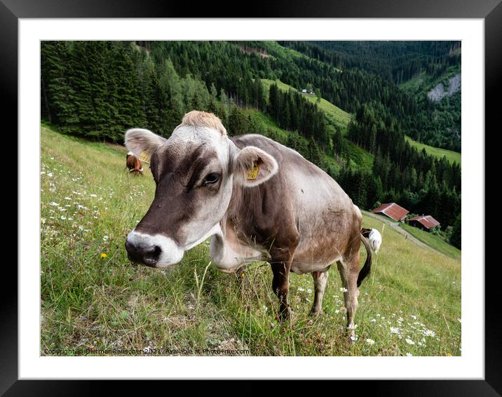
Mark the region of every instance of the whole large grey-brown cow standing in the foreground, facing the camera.
POLYGON ((290 318, 290 272, 312 274, 311 314, 321 314, 328 269, 337 262, 355 339, 359 286, 372 253, 360 234, 359 208, 332 177, 268 137, 229 137, 217 116, 205 112, 185 114, 169 139, 128 130, 125 144, 151 155, 156 184, 149 210, 126 240, 131 261, 163 269, 210 237, 210 256, 221 271, 270 263, 281 321, 290 318), (367 257, 360 270, 361 242, 367 257))

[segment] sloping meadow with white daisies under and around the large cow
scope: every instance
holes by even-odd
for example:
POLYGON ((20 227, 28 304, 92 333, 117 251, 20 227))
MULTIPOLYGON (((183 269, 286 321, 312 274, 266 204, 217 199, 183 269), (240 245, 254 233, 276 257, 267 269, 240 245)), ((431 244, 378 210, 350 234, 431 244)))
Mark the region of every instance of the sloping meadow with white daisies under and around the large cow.
MULTIPOLYGON (((147 347, 242 349, 252 356, 461 354, 460 261, 420 248, 390 227, 360 288, 353 344, 336 267, 325 314, 316 318, 308 316, 311 275, 292 274, 290 328, 276 321, 269 267, 251 264, 246 286, 210 265, 208 241, 170 269, 130 263, 126 236, 149 208, 154 182, 148 167, 143 177, 129 175, 125 154, 118 145, 41 130, 42 355, 45 349, 102 355, 112 353, 93 349, 147 347)), ((363 225, 382 228, 372 218, 363 225)))

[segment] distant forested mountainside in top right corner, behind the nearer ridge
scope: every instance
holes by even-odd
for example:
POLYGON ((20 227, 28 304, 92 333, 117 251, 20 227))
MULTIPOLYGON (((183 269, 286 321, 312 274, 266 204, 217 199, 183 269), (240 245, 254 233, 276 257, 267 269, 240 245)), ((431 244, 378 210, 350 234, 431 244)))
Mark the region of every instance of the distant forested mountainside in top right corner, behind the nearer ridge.
MULTIPOLYGON (((321 82, 330 102, 347 112, 370 100, 379 100, 402 120, 407 135, 434 147, 461 152, 461 95, 431 102, 427 90, 447 72, 461 69, 460 41, 280 41, 283 46, 308 55, 315 66, 341 69, 344 96, 333 81, 321 82), (403 95, 398 84, 417 76, 424 81, 418 90, 403 95), (384 81, 380 81, 383 79, 384 81), (355 83, 353 83, 355 82, 355 83), (433 82, 433 84, 430 84, 433 82), (425 88, 426 89, 425 89, 425 88), (366 95, 367 94, 367 95, 366 95)), ((297 60, 296 62, 305 62, 297 60)), ((319 73, 317 71, 316 73, 319 73)), ((324 75, 326 75, 325 72, 324 75)), ((332 72, 330 79, 333 79, 332 72)))

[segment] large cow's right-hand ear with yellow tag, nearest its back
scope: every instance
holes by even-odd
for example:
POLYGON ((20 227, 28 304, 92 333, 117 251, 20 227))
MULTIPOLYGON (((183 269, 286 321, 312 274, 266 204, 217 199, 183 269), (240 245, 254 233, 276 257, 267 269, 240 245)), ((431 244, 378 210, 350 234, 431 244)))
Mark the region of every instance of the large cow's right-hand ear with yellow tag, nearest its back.
POLYGON ((276 175, 279 169, 276 159, 255 146, 246 146, 233 161, 233 180, 243 186, 257 186, 276 175))

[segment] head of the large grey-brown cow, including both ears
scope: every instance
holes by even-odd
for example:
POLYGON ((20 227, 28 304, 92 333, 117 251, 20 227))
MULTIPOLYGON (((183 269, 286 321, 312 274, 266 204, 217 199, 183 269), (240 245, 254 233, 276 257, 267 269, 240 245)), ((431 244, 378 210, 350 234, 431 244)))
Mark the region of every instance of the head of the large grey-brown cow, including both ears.
POLYGON ((128 130, 126 146, 137 157, 151 156, 154 201, 126 241, 130 260, 150 267, 178 263, 186 250, 221 234, 233 184, 256 186, 278 170, 262 149, 238 149, 217 116, 205 112, 186 114, 167 140, 149 130, 128 130), (247 179, 255 165, 258 174, 247 179))

